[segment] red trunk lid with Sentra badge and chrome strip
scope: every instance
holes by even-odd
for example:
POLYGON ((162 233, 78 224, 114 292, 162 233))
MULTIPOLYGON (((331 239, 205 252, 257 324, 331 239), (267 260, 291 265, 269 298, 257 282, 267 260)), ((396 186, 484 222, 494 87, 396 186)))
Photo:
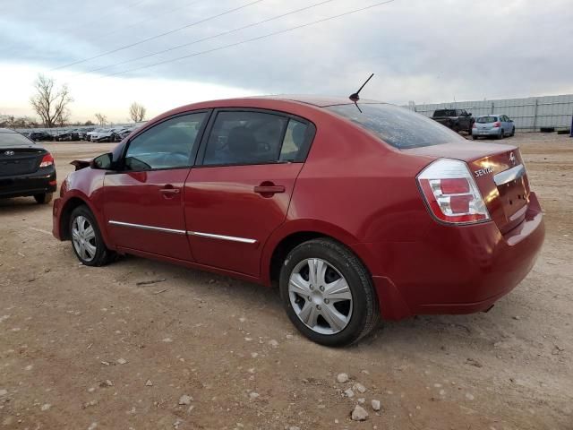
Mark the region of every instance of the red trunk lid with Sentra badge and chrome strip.
POLYGON ((519 149, 495 143, 445 143, 403 152, 466 161, 492 220, 507 233, 526 217, 529 182, 519 149))

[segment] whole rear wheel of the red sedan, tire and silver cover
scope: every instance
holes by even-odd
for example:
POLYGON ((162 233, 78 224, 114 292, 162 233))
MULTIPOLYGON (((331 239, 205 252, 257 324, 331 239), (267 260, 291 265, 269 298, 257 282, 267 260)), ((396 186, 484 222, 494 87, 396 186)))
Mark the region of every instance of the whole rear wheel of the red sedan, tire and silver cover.
POLYGON ((279 287, 291 322, 322 345, 349 345, 380 320, 370 274, 355 254, 331 239, 296 246, 282 266, 279 287))

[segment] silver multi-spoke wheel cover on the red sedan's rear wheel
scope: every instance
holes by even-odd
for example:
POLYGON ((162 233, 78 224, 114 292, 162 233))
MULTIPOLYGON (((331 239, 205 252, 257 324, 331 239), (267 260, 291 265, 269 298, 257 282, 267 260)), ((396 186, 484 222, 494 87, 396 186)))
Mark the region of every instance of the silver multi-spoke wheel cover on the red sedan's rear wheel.
POLYGON ((346 279, 320 258, 296 264, 289 278, 288 296, 296 316, 317 333, 343 331, 352 317, 353 297, 346 279))

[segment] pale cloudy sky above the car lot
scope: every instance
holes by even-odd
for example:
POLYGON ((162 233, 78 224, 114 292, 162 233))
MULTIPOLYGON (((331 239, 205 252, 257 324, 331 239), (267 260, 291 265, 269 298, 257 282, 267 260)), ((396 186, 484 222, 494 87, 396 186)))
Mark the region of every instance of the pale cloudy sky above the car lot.
POLYGON ((394 0, 257 39, 379 3, 3 1, 0 114, 33 116, 38 73, 68 84, 81 121, 125 121, 132 101, 155 116, 201 99, 346 96, 369 73, 363 97, 398 104, 573 93, 570 0, 394 0))

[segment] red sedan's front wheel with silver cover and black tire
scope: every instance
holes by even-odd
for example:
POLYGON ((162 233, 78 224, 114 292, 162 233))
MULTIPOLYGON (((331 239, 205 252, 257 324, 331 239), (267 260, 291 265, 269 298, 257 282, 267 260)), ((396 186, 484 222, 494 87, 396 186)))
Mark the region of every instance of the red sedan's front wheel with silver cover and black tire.
POLYGON ((87 266, 103 266, 115 253, 108 250, 99 232, 98 223, 86 206, 78 206, 70 217, 73 252, 87 266))

